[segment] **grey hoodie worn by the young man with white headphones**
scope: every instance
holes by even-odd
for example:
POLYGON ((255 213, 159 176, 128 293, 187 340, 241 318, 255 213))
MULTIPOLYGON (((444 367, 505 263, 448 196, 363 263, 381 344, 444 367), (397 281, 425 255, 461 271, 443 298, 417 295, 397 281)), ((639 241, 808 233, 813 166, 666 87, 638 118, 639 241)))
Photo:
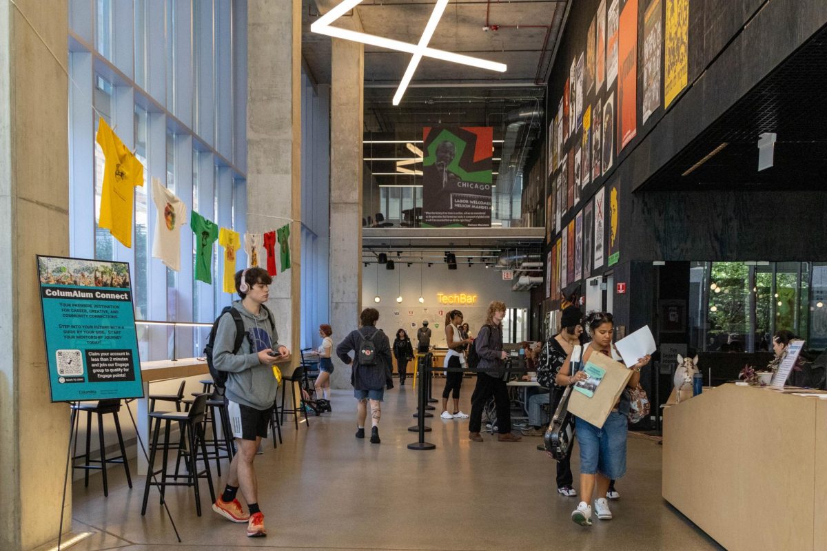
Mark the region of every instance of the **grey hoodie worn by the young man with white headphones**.
POLYGON ((224 315, 218 322, 218 331, 213 344, 213 363, 215 368, 227 372, 228 400, 242 406, 266 410, 275 403, 275 391, 279 387, 270 365, 259 363, 258 352, 265 349, 279 349, 279 335, 270 331, 267 312, 261 308, 258 316, 253 316, 241 301, 232 303, 241 313, 244 321, 246 338, 241 341, 238 354, 232 354, 232 345, 236 341, 236 322, 232 316, 224 315))

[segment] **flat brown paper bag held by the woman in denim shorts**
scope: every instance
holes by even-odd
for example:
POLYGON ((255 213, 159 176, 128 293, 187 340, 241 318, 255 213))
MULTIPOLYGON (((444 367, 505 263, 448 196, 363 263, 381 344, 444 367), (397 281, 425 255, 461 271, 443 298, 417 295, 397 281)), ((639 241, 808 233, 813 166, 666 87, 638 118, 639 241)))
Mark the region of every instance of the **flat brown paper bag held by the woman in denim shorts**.
POLYGON ((592 350, 589 359, 584 364, 584 368, 589 363, 594 363, 598 368, 605 369, 603 378, 592 397, 586 397, 581 392, 577 392, 575 388, 571 389, 569 411, 582 420, 595 425, 598 429, 602 429, 609 413, 614 408, 614 404, 617 403, 620 393, 624 391, 627 383, 629 383, 632 370, 626 368, 623 363, 615 362, 614 359, 610 359, 605 354, 600 354, 595 350, 592 350))

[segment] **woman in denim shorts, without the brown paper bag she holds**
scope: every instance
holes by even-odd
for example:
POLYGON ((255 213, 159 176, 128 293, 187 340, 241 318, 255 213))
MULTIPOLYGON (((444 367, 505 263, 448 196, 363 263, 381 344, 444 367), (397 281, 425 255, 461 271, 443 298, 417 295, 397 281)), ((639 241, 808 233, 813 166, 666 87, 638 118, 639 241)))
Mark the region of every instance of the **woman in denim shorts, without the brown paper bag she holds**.
MULTIPOLYGON (((583 369, 591 354, 605 354, 609 358, 620 360, 612 346, 614 322, 609 312, 593 312, 586 319, 592 340, 583 347, 577 347, 566 358, 557 373, 555 381, 558 385, 572 385, 586 381, 589 375, 583 369), (572 370, 572 363, 574 369, 572 370), (573 371, 573 374, 572 374, 573 371)), ((638 359, 638 363, 631 366, 632 377, 629 378, 627 389, 637 387, 640 380, 640 370, 649 363, 649 356, 638 359)), ((591 525, 592 494, 599 496, 595 501, 595 511, 600 520, 610 520, 609 501, 606 492, 609 490, 609 480, 623 477, 626 473, 626 432, 627 414, 629 413, 629 394, 624 391, 620 399, 609 413, 602 428, 597 428, 586 420, 575 417, 577 444, 580 447, 580 487, 584 501, 574 511, 571 511, 571 520, 581 526, 591 525)))

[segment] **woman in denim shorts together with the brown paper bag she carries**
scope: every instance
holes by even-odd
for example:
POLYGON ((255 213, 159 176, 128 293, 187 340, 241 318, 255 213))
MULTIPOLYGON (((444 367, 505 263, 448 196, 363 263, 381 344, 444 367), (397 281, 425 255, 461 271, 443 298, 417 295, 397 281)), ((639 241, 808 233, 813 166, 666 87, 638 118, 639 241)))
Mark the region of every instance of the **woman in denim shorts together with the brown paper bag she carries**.
POLYGON ((592 336, 591 342, 571 352, 556 378, 560 386, 578 385, 573 389, 578 392, 571 392, 569 411, 575 416, 581 496, 585 501, 571 512, 571 520, 581 526, 591 525, 590 501, 595 486, 596 495, 600 496, 594 501, 597 518, 612 518, 605 496, 609 480, 626 473, 626 415, 629 412, 626 389, 638 386, 640 370, 649 363, 647 355, 627 370, 616 361, 619 356, 615 356, 612 346, 614 322, 609 312, 591 313, 586 318, 586 325, 592 336), (610 397, 609 402, 605 401, 606 397, 610 397), (605 416, 609 408, 608 416, 605 416))

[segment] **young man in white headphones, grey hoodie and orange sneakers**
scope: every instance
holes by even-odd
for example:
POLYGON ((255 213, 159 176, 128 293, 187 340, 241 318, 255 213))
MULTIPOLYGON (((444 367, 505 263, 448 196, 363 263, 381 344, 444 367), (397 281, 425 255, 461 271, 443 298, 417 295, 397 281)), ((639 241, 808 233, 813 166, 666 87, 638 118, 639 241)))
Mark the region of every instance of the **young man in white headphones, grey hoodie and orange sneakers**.
POLYGON ((213 511, 232 522, 246 522, 247 535, 255 538, 267 535, 267 531, 258 506, 253 460, 261 439, 267 436, 279 387, 273 364, 288 359, 289 350, 279 344, 273 314, 265 306, 273 282, 270 274, 263 268, 249 268, 239 270, 235 279, 241 300, 218 316, 205 349, 213 382, 219 393, 223 390, 227 401, 237 448, 227 486, 213 503, 213 511), (239 488, 249 513, 237 500, 239 488))

